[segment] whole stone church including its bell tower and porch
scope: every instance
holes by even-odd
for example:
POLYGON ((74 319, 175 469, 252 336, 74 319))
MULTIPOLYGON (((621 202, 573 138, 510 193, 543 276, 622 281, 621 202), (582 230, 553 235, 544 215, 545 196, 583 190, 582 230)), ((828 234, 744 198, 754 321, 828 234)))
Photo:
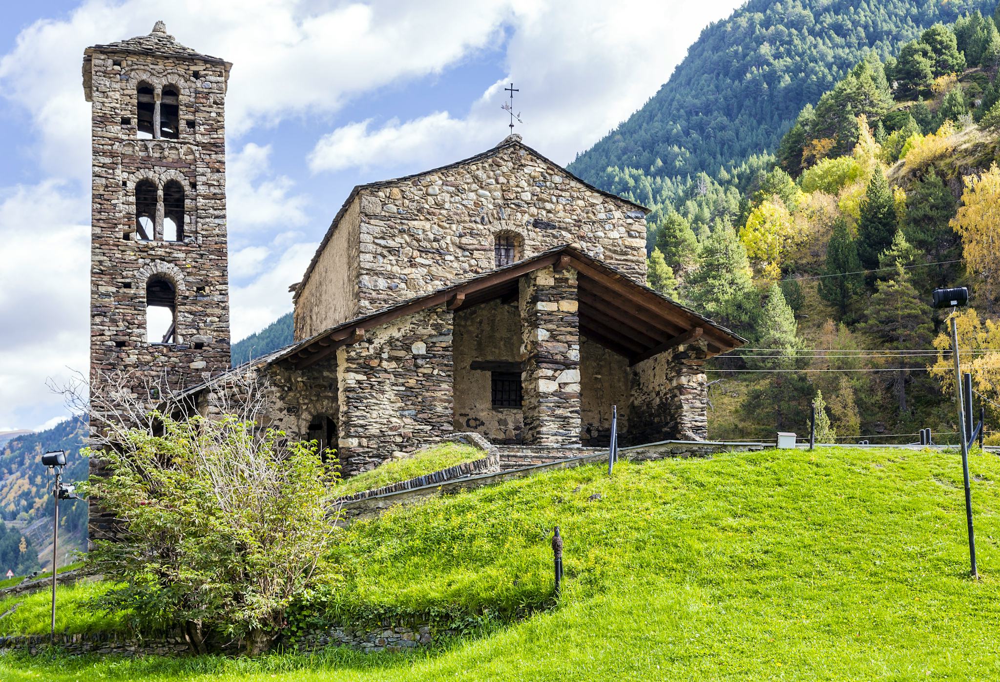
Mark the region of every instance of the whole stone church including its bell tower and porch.
POLYGON ((454 431, 606 446, 612 406, 622 444, 706 438, 702 365, 743 339, 644 285, 646 209, 517 135, 355 187, 291 287, 294 343, 230 369, 230 66, 159 22, 85 52, 93 382, 165 376, 212 414, 232 380, 266 377, 271 424, 346 474, 454 431))

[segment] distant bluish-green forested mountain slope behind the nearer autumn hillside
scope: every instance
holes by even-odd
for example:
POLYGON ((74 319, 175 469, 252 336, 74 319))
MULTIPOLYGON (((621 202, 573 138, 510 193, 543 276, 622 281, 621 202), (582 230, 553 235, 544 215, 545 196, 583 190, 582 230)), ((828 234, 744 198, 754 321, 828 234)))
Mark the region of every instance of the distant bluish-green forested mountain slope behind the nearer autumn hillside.
POLYGON ((646 205, 677 204, 685 180, 718 178, 720 167, 773 151, 802 107, 869 50, 885 58, 935 22, 977 9, 989 15, 995 4, 750 0, 706 28, 660 91, 569 168, 646 205), (678 184, 656 187, 656 179, 678 184))

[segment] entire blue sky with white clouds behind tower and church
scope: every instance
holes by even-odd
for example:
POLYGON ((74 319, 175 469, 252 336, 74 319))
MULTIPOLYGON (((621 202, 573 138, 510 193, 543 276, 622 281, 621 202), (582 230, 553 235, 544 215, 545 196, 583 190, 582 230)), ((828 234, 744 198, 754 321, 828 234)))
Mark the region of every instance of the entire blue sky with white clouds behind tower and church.
POLYGON ((735 0, 87 0, 0 23, 0 431, 65 416, 46 382, 87 373, 85 47, 148 33, 233 62, 227 93, 233 340, 291 309, 355 184, 432 168, 509 132, 560 163, 651 97, 735 0))

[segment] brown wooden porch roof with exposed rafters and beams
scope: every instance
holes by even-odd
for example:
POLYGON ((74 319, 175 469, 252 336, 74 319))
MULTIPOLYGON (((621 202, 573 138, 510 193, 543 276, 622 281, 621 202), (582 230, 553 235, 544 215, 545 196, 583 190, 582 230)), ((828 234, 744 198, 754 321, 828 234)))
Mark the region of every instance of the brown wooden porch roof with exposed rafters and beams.
POLYGON ((459 311, 487 301, 510 301, 518 295, 518 280, 547 266, 571 267, 578 273, 580 333, 637 364, 675 346, 704 339, 709 356, 737 348, 746 340, 685 306, 664 298, 625 274, 563 246, 485 275, 439 289, 331 327, 275 354, 269 363, 287 362, 305 369, 335 355, 341 346, 357 343, 365 330, 405 315, 444 305, 459 311))

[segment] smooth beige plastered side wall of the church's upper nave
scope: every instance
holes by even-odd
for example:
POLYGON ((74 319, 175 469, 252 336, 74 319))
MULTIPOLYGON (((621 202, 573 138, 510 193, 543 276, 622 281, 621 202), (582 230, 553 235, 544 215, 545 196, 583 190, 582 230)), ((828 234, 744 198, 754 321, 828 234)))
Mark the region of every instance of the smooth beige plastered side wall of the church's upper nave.
POLYGON ((296 341, 307 339, 358 315, 358 263, 360 254, 381 247, 361 233, 361 202, 355 198, 344 211, 337 229, 321 247, 309 281, 296 294, 296 341))

